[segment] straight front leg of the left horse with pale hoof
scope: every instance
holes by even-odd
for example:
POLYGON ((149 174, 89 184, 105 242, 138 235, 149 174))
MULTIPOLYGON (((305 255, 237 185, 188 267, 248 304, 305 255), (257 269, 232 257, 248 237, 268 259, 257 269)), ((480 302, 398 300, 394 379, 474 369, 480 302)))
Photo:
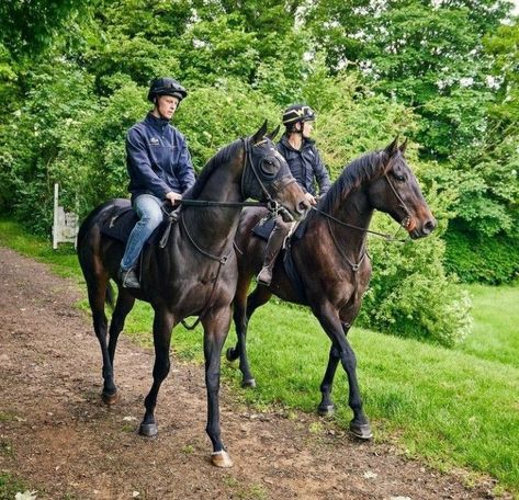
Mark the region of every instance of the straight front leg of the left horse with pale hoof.
POLYGON ((219 427, 219 373, 222 349, 230 326, 230 307, 211 310, 202 320, 204 326, 205 387, 207 389, 207 435, 213 443, 211 462, 217 467, 232 467, 219 427))

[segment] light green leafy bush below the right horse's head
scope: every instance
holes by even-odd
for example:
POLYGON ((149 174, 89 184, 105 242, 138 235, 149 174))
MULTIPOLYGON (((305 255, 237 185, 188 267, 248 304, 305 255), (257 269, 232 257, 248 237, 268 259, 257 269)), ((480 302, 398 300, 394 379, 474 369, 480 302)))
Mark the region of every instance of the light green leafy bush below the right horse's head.
MULTIPOLYGON (((374 227, 391 232, 387 216, 374 227)), ((439 235, 407 243, 370 240, 373 276, 359 321, 370 328, 452 346, 472 330, 471 300, 443 271, 439 235)))

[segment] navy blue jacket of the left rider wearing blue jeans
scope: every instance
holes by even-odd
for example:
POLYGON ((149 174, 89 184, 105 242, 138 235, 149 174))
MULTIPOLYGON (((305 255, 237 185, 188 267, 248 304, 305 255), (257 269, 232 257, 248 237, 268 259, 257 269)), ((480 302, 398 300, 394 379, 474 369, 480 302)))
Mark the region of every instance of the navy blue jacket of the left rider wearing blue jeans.
POLYGON ((184 193, 194 184, 194 170, 183 135, 167 120, 148 113, 126 136, 126 167, 132 198, 184 193))

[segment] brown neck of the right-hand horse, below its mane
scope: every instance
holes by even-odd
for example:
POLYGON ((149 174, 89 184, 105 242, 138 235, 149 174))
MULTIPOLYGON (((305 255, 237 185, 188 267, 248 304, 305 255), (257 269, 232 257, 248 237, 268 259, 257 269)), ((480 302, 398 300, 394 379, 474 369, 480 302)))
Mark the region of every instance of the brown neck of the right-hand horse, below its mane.
MULTIPOLYGON (((373 207, 362 188, 359 188, 349 192, 329 215, 349 226, 368 229, 373 216, 373 207)), ((329 219, 326 219, 324 224, 328 225, 328 221, 341 249, 352 261, 357 261, 365 250, 368 232, 353 227, 341 226, 329 219)))

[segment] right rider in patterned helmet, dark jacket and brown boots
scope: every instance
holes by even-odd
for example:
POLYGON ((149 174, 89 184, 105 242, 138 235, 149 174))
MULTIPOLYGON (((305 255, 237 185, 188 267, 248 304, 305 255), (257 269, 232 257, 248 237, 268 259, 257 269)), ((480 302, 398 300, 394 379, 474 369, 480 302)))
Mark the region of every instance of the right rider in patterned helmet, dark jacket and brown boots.
MULTIPOLYGON (((283 113, 283 125, 286 129, 278 143, 278 150, 285 158, 292 174, 312 205, 317 203, 315 181, 319 186, 320 196, 330 189, 330 179, 326 167, 314 140, 309 138, 314 121, 315 113, 312 107, 303 104, 289 106, 283 113)), ((263 268, 258 274, 258 283, 270 285, 275 258, 291 227, 291 223, 284 223, 281 217, 275 218, 274 229, 264 250, 263 268)))

